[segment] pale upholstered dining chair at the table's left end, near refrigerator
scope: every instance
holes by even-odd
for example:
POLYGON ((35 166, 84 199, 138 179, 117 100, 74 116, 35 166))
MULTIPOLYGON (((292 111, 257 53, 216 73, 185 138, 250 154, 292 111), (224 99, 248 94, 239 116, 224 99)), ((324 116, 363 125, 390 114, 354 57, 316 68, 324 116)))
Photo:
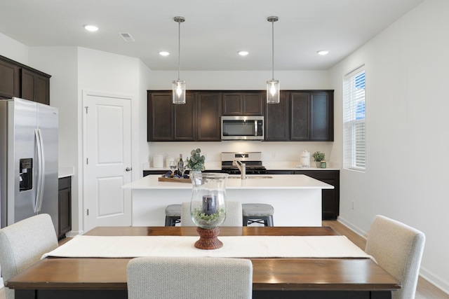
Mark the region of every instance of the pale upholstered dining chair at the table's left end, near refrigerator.
MULTIPOLYGON (((55 227, 48 214, 24 219, 0 230, 0 265, 4 281, 41 259, 43 253, 58 247, 55 227)), ((5 288, 6 299, 14 291, 5 288)))

